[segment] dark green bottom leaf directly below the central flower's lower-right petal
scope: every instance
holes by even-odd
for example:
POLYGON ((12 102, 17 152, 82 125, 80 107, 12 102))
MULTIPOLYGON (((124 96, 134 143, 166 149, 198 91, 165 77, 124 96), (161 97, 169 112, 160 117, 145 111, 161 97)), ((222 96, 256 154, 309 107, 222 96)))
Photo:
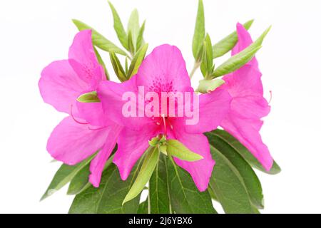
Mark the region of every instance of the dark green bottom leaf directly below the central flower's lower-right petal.
POLYGON ((172 158, 165 160, 168 170, 170 205, 176 214, 216 213, 208 191, 199 192, 192 177, 175 165, 172 158))

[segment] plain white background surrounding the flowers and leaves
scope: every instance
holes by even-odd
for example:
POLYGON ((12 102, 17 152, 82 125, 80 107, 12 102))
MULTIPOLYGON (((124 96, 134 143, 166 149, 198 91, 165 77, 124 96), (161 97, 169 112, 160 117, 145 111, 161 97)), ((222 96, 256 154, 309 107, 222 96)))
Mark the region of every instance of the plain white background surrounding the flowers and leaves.
MULTIPOLYGON (((147 19, 148 52, 162 43, 178 46, 193 66, 191 41, 197 1, 114 0, 126 21, 135 7, 147 19)), ((321 1, 204 0, 205 23, 213 41, 255 19, 256 38, 272 30, 258 53, 267 99, 263 140, 282 167, 280 175, 258 172, 265 193, 263 213, 321 212, 320 90, 321 1)), ((66 187, 44 202, 41 195, 59 163, 50 163, 46 140, 63 118, 42 102, 38 89, 44 66, 67 57, 80 19, 118 44, 107 1, 0 1, 0 212, 68 212, 66 187)), ((108 59, 106 59, 108 63, 108 59)), ((109 71, 111 66, 108 64, 109 71)), ((194 85, 200 73, 193 78, 194 85)))

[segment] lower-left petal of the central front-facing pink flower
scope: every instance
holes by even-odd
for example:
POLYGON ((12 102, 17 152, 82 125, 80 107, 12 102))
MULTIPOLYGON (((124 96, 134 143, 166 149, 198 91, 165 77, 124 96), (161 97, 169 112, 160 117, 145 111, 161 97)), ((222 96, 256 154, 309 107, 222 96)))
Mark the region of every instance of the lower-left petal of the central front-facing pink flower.
POLYGON ((148 140, 156 136, 156 128, 146 125, 140 131, 124 128, 119 135, 118 150, 113 158, 121 174, 121 179, 126 180, 137 160, 149 147, 148 140))

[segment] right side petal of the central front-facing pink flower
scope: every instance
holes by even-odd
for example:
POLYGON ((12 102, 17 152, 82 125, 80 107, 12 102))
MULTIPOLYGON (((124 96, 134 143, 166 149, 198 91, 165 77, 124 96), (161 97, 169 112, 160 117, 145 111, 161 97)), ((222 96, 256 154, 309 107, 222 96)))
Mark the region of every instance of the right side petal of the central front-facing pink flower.
POLYGON ((199 98, 199 121, 195 125, 185 125, 188 133, 205 133, 215 130, 230 110, 231 96, 226 90, 214 90, 211 93, 200 95, 199 98))

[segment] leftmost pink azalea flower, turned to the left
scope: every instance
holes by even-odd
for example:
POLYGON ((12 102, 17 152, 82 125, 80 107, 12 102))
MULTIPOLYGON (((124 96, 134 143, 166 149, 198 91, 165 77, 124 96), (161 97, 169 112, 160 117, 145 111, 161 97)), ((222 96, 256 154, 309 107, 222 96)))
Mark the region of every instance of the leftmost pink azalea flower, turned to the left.
POLYGON ((39 89, 46 103, 71 114, 51 133, 47 150, 56 160, 75 165, 93 153, 89 181, 98 187, 106 160, 116 145, 121 127, 103 115, 101 103, 77 103, 79 95, 96 90, 105 81, 91 42, 91 31, 76 34, 68 60, 55 61, 41 73, 39 89))

